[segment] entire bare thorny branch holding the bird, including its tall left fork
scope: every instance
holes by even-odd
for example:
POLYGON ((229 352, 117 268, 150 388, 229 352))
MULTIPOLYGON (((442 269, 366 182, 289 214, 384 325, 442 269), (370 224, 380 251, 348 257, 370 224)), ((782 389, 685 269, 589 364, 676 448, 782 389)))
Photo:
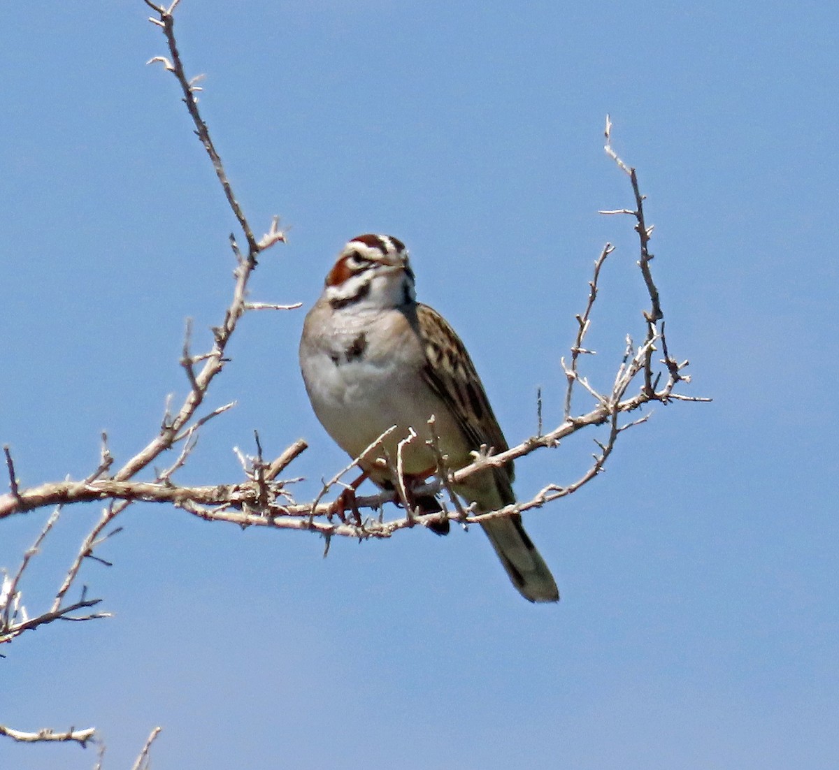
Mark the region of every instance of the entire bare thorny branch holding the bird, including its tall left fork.
MULTIPOLYGON (((492 454, 492 448, 488 448, 489 451, 478 453, 469 466, 452 469, 448 466, 446 455, 440 452, 439 442, 437 442, 434 434, 434 424, 433 421, 431 422, 428 443, 437 458, 437 472, 435 477, 432 477, 425 486, 412 486, 411 492, 414 495, 446 492, 451 507, 444 504, 440 512, 427 514, 413 512, 410 509, 409 494, 404 478, 399 471, 402 465, 402 450, 407 441, 424 440, 416 433, 409 437, 403 437, 398 444, 397 456, 391 458, 397 469, 398 480, 393 492, 380 492, 368 497, 356 497, 354 495, 355 485, 347 485, 342 481, 343 476, 348 471, 361 464, 368 452, 373 451, 381 444, 387 432, 379 437, 365 453, 362 453, 361 456, 352 460, 347 467, 332 476, 330 481, 324 481, 320 492, 312 502, 296 502, 294 500, 289 485, 294 481, 299 481, 298 479, 282 480, 279 478, 279 475, 289 464, 305 450, 306 445, 303 440, 290 445, 275 460, 267 461, 263 458, 262 446, 259 444, 257 436, 258 454, 256 457, 248 457, 239 452, 245 476, 243 481, 211 486, 182 486, 177 484, 174 481, 175 473, 189 459, 199 429, 208 420, 222 414, 233 405, 227 404, 212 409, 201 416, 198 414, 211 382, 227 363, 227 346, 237 329, 238 320, 249 310, 291 310, 299 307, 300 304, 248 301, 248 284, 253 270, 257 266, 258 255, 268 247, 278 242, 284 242, 284 231, 279 228, 279 220, 274 217, 268 232, 257 240, 242 207, 237 202, 232 186, 227 179, 221 157, 199 111, 197 93, 201 91, 201 87, 198 86, 200 79, 189 79, 185 75, 184 65, 175 41, 175 18, 173 13, 179 0, 175 0, 169 8, 156 5, 151 0, 145 0, 145 2, 149 5, 149 8, 154 10, 156 16, 150 20, 162 29, 169 49, 168 56, 156 56, 150 61, 161 63, 165 70, 175 75, 183 93, 185 105, 195 125, 195 133, 216 170, 216 175, 233 216, 235 216, 244 234, 247 250, 242 252, 236 238, 231 236, 230 246, 236 260, 236 269, 233 273, 232 299, 224 313, 221 324, 212 329, 213 339, 209 350, 197 355, 192 352, 192 326, 190 322, 187 323, 180 364, 184 369, 189 388, 183 402, 176 410, 167 406, 159 433, 133 457, 125 461, 121 467, 118 467, 116 472, 111 472, 114 460, 107 449, 107 437, 103 435, 100 465, 84 480, 58 481, 23 488, 16 476, 12 452, 8 447, 4 447, 9 493, 0 496, 0 521, 18 513, 49 506, 66 507, 80 502, 104 502, 106 507, 104 507, 101 517, 81 544, 81 549, 73 563, 70 564, 70 569, 56 593, 50 611, 29 618, 21 601, 19 586, 30 560, 38 552, 46 535, 55 527, 60 510, 60 508, 56 508, 32 548, 24 554, 23 563, 18 571, 11 578, 7 575, 3 580, 3 591, 0 591, 0 643, 10 641, 25 630, 55 620, 86 620, 106 616, 107 613, 102 612, 76 614, 80 610, 87 610, 96 606, 99 602, 99 600, 88 599, 86 589, 81 592, 81 599, 78 601, 66 603, 66 597, 71 586, 74 585, 85 559, 96 559, 103 564, 107 564, 107 561, 95 554, 95 550, 112 534, 119 531, 119 528, 110 530, 108 528, 112 525, 114 519, 133 502, 165 503, 183 509, 199 518, 235 523, 242 528, 261 526, 315 532, 324 536, 327 544, 334 536, 361 539, 388 538, 400 529, 409 528, 418 523, 429 525, 442 523, 446 519, 453 519, 463 524, 482 522, 489 518, 508 516, 513 512, 524 512, 531 508, 542 507, 548 502, 576 492, 581 486, 591 481, 603 470, 620 434, 624 430, 644 422, 649 417, 649 413, 646 413, 638 419, 624 420, 624 414, 631 413, 654 402, 709 400, 676 392, 677 385, 690 382, 690 377, 683 373, 688 362, 678 362, 670 355, 669 346, 664 336, 664 311, 651 268, 654 255, 649 252, 649 242, 653 228, 646 224, 645 198, 640 192, 636 170, 625 164, 612 148, 612 123, 607 117, 606 152, 618 165, 618 168, 628 174, 633 192, 634 208, 603 211, 602 213, 633 216, 635 220, 634 229, 638 233, 638 267, 649 297, 649 309, 644 310, 646 323, 644 342, 636 347, 628 339, 623 361, 620 363, 614 382, 609 388, 599 390, 592 385, 581 373, 580 364, 581 356, 594 354, 594 351, 586 348, 586 335, 593 322, 598 281, 607 258, 613 251, 611 244, 603 247, 600 256, 594 263, 594 272, 589 282, 585 309, 580 315, 576 315, 576 335, 571 346, 571 356, 568 362, 565 362, 565 359, 561 362, 566 384, 564 418, 560 424, 555 426, 554 429, 544 432, 539 412, 539 429, 534 436, 498 454, 492 454), (659 346, 664 357, 657 362, 654 354, 659 346), (662 366, 659 367, 659 364, 662 366), (633 383, 639 381, 639 386, 633 386, 633 383), (573 395, 577 388, 582 388, 594 399, 593 408, 584 414, 573 413, 573 395), (453 491, 455 486, 461 484, 469 476, 479 473, 487 467, 503 466, 510 460, 519 459, 536 450, 555 448, 560 445, 561 440, 571 434, 599 425, 607 428, 607 435, 604 440, 597 441, 597 452, 592 457, 591 466, 584 474, 573 481, 561 485, 550 483, 528 500, 504 507, 498 511, 482 512, 480 514, 464 507, 453 491), (173 449, 175 445, 180 445, 180 454, 169 467, 163 471, 154 471, 154 476, 150 480, 139 478, 143 471, 149 471, 153 468, 154 461, 160 455, 173 449), (399 502, 404 509, 404 515, 390 520, 384 520, 382 515, 370 517, 364 521, 360 517, 355 520, 341 518, 338 521, 332 515, 336 510, 335 502, 326 500, 327 496, 331 496, 336 491, 341 492, 341 494, 352 491, 353 507, 356 510, 363 508, 382 510, 386 502, 399 502)), ((149 745, 154 740, 154 735, 156 734, 149 737, 149 745)))

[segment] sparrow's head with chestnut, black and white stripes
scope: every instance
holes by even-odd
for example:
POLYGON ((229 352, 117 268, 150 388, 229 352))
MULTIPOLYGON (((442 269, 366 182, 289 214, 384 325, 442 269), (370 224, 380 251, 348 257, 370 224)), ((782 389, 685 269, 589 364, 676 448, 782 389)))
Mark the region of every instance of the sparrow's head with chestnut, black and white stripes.
POLYGON ((359 303, 382 308, 414 302, 408 249, 393 236, 357 236, 327 273, 324 291, 334 310, 359 303))

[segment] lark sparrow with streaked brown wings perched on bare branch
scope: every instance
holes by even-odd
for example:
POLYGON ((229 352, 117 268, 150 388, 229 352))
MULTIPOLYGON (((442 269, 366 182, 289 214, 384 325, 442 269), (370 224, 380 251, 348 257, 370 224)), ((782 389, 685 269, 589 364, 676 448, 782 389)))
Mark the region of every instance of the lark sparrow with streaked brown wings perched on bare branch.
MULTIPOLYGON (((360 463, 383 488, 393 489, 393 461, 410 428, 418 438, 402 450, 405 479, 435 472, 434 451, 425 443, 431 415, 440 451, 455 470, 469 465, 481 445, 496 453, 508 448, 466 348, 439 313, 416 301, 408 252, 392 236, 358 236, 339 254, 306 315, 300 369, 317 418, 352 457, 396 426, 378 453, 360 463)), ((512 481, 509 462, 470 476, 455 491, 478 512, 494 511, 515 502, 512 481)), ((433 498, 414 502, 426 512, 440 510, 433 498)), ((482 528, 524 598, 560 598, 519 515, 482 528)))

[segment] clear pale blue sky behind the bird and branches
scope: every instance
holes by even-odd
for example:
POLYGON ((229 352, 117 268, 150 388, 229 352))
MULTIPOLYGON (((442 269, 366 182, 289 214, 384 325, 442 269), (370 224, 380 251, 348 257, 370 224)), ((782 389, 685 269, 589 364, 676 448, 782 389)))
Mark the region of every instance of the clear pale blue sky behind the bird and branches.
MULTIPOLYGON (((0 723, 96 726, 105 767, 774 768, 839 756, 836 29, 829 3, 184 0, 181 53, 255 229, 253 299, 308 306, 342 244, 388 232, 459 331, 511 442, 561 416, 560 356, 607 263, 586 362, 643 336, 627 180, 685 392, 607 473, 527 518, 562 592, 531 606, 477 529, 332 544, 135 506, 86 564, 111 620, 3 649, 0 723)), ((157 430, 187 316, 206 345, 235 229, 141 0, 29 3, 0 46, 0 442, 23 485, 86 476, 157 430)), ((246 317, 180 480, 236 481, 233 446, 310 499, 345 458, 296 362, 304 310, 246 317)), ((598 377, 600 378, 598 380, 598 377)), ((582 405, 582 404, 581 404, 582 405)), ((521 460, 573 480, 594 434, 521 460)), ((393 513, 395 511, 392 511, 393 513)), ((0 525, 15 568, 47 512, 0 525)), ((46 606, 96 507, 65 510, 23 585, 46 606)), ((0 741, 0 767, 94 751, 0 741)))

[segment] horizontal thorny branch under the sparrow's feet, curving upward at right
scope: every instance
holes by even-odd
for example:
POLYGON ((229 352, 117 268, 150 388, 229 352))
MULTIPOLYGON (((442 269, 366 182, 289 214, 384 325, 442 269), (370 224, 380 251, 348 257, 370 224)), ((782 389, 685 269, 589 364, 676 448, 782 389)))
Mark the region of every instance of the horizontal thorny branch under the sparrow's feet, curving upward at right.
MULTIPOLYGON (((444 510, 441 512, 414 516, 407 505, 407 495, 404 485, 398 484, 395 492, 381 492, 369 497, 356 497, 354 505, 358 508, 378 508, 385 502, 401 502, 405 509, 402 518, 394 518, 390 521, 381 519, 367 519, 359 523, 352 521, 331 521, 331 513, 334 512, 332 502, 323 502, 326 496, 334 489, 346 488, 341 478, 352 468, 357 467, 376 446, 378 446, 385 435, 373 442, 367 450, 359 457, 339 471, 330 481, 325 481, 320 492, 313 502, 294 502, 294 498, 288 492, 286 485, 288 481, 276 481, 277 472, 263 474, 261 478, 248 474, 248 480, 235 484, 216 484, 212 486, 178 486, 167 477, 164 481, 140 482, 123 479, 119 474, 112 478, 96 478, 92 481, 65 481, 59 483, 45 484, 26 490, 19 490, 16 494, 0 497, 0 519, 13 515, 17 512, 30 510, 34 507, 44 507, 50 504, 67 505, 74 502, 90 502, 95 500, 120 501, 119 504, 129 502, 166 502, 180 507, 200 518, 227 521, 236 523, 241 527, 268 526, 279 529, 303 529, 314 531, 322 535, 345 536, 352 538, 388 538, 399 529, 413 526, 415 523, 438 523, 446 518, 453 518, 461 523, 475 523, 507 516, 513 512, 524 512, 534 507, 542 507, 560 497, 565 497, 576 492, 592 478, 597 476, 605 465, 609 455, 612 453, 618 436, 624 430, 633 427, 648 419, 645 414, 640 419, 635 419, 621 424, 621 414, 629 413, 644 407, 652 402, 669 403, 672 400, 706 401, 706 398, 687 396, 676 393, 675 387, 680 382, 690 382, 690 377, 683 372, 688 362, 676 362, 670 356, 664 339, 664 313, 661 310, 658 290, 652 278, 649 263, 652 254, 649 253, 649 239, 652 228, 644 224, 644 195, 638 189, 638 176, 635 169, 628 167, 623 160, 612 150, 611 144, 611 122, 607 122, 607 153, 616 161, 619 168, 623 169, 630 177, 633 195, 635 198, 635 210, 622 209, 607 211, 603 213, 624 213, 635 217, 638 232, 640 259, 638 265, 644 276, 644 284, 647 287, 650 309, 644 311, 644 318, 648 324, 648 332, 644 343, 636 349, 631 340, 627 342, 627 352, 618 367, 615 381, 608 392, 599 392, 594 388, 586 377, 581 375, 579 369, 579 357, 582 354, 593 354, 594 351, 585 347, 586 333, 591 327, 592 311, 597 300, 597 283, 604 263, 613 247, 607 244, 603 247, 600 256, 594 265, 594 273, 589 283, 589 294, 586 308, 581 315, 576 316, 577 331, 576 338, 571 346, 570 364, 562 360, 562 366, 567 380, 565 393, 565 419, 546 433, 539 430, 537 435, 522 441, 519 445, 513 446, 499 454, 481 455, 469 466, 451 471, 445 466, 445 457, 440 457, 440 468, 437 478, 425 486, 417 487, 414 492, 417 494, 435 493, 445 488, 450 492, 452 501, 456 501, 456 495, 451 492, 451 485, 465 481, 466 478, 481 471, 487 466, 503 466, 509 460, 517 460, 531 452, 543 448, 553 448, 560 444, 560 441, 579 430, 594 427, 597 425, 608 425, 609 432, 607 439, 598 443, 599 452, 593 456, 593 462, 586 473, 575 481, 565 485, 550 484, 540 490, 534 497, 515 505, 504 507, 494 512, 474 514, 468 512, 457 502, 455 511, 444 510), (667 377, 662 384, 664 372, 654 374, 654 352, 657 345, 661 345, 664 351, 664 372, 667 377), (644 382, 636 393, 629 393, 629 389, 639 374, 643 373, 644 382), (584 388, 596 401, 596 406, 586 414, 571 414, 571 397, 576 386, 584 388)), ((202 374, 203 372, 201 372, 202 374)), ((202 392, 206 390, 201 374, 196 376, 196 381, 202 392)), ((415 436, 410 440, 418 440, 415 436)), ((302 450, 300 443, 292 445, 284 452, 274 465, 284 467, 287 462, 284 458, 288 455, 296 455, 302 450)), ((289 460, 290 461, 290 460, 289 460)), ((399 457, 396 458, 399 465, 399 457)))

